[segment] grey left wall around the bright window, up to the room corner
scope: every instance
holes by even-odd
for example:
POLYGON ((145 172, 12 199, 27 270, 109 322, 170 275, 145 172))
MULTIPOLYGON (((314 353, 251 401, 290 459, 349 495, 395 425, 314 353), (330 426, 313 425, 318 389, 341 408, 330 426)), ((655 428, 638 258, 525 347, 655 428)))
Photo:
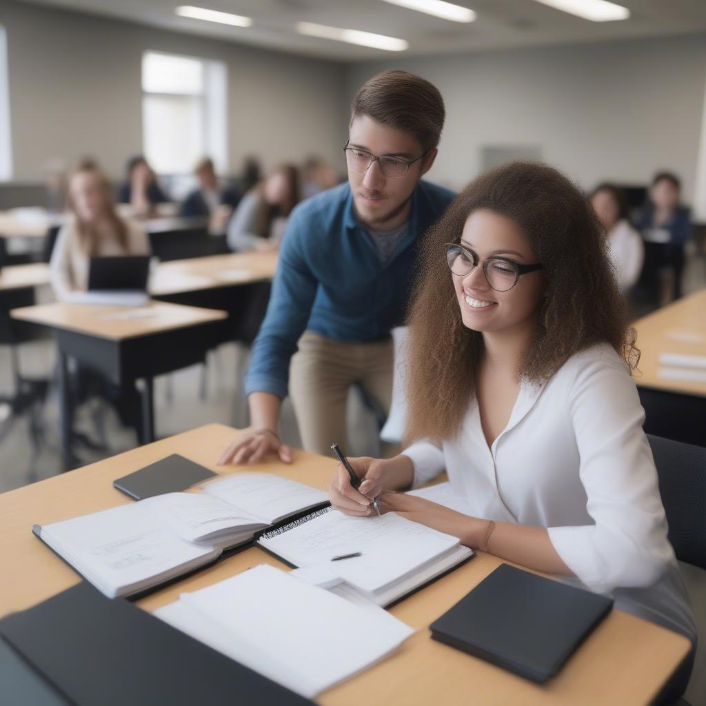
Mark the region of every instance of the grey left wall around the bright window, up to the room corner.
POLYGON ((142 149, 140 60, 146 49, 225 61, 229 168, 318 153, 341 161, 340 64, 233 42, 0 0, 7 30, 13 181, 37 181, 49 160, 95 155, 113 177, 142 149))

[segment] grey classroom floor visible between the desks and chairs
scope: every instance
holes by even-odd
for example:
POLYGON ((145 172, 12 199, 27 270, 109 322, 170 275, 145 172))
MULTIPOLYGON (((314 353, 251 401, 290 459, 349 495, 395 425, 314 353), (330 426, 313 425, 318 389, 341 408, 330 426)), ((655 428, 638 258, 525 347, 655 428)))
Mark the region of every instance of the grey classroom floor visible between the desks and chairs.
MULTIPOLYGON (((706 286, 706 258, 691 254, 684 276, 685 292, 706 286)), ((42 293, 40 299, 47 297, 42 293)), ((644 313, 644 312, 640 312, 644 313)), ((233 426, 246 424, 246 407, 241 396, 237 370, 242 369, 242 356, 247 355, 236 345, 223 345, 209 356, 205 395, 202 395, 201 366, 192 366, 155 381, 155 426, 159 437, 170 436, 194 426, 217 421, 233 426)), ((28 376, 52 376, 54 347, 50 340, 40 340, 22 346, 21 369, 28 376)), ((12 389, 10 358, 7 347, 0 347, 0 393, 12 389)), ((33 456, 27 419, 8 419, 6 407, 0 405, 0 492, 18 488, 29 482, 51 477, 61 470, 59 454, 59 407, 56 390, 52 388, 44 408, 44 444, 37 457, 33 456)), ((75 428, 97 441, 95 406, 83 405, 76 412, 75 428)), ((112 408, 106 407, 105 431, 107 450, 92 450, 76 446, 76 453, 85 463, 133 448, 136 437, 125 429, 112 408)), ((377 450, 376 424, 355 395, 349 399, 349 454, 374 455, 377 450)), ((282 436, 292 445, 300 445, 297 422, 289 402, 282 413, 282 436)), ((222 452, 213 449, 213 460, 222 452)), ((702 642, 706 640, 706 572, 683 565, 683 574, 697 614, 702 642)), ((692 706, 706 706, 706 648, 698 650, 693 676, 686 698, 692 706)))

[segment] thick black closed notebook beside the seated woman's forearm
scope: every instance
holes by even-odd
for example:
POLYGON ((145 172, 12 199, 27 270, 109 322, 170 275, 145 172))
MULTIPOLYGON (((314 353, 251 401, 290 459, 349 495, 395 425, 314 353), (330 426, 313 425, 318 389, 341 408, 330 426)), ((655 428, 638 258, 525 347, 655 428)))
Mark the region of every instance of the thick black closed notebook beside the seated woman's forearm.
POLYGON ((434 640, 542 683, 612 606, 605 596, 501 564, 429 627, 434 640))

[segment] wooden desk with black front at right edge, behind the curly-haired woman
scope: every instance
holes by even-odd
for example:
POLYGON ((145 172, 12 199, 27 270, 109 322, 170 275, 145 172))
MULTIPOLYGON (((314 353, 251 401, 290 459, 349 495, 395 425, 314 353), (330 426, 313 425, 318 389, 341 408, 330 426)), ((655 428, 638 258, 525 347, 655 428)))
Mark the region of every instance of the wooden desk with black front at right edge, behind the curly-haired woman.
POLYGON ((640 318, 633 326, 640 349, 635 383, 647 413, 645 431, 706 446, 706 369, 659 359, 662 354, 706 357, 706 289, 640 318))

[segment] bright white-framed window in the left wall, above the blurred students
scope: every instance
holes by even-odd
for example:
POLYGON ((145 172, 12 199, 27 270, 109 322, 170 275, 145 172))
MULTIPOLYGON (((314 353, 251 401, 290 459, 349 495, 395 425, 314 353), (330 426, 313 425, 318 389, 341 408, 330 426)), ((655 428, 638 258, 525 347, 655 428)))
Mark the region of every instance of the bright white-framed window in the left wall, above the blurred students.
POLYGON ((142 90, 143 149, 157 174, 189 174, 203 156, 227 170, 225 64, 145 52, 142 90))

